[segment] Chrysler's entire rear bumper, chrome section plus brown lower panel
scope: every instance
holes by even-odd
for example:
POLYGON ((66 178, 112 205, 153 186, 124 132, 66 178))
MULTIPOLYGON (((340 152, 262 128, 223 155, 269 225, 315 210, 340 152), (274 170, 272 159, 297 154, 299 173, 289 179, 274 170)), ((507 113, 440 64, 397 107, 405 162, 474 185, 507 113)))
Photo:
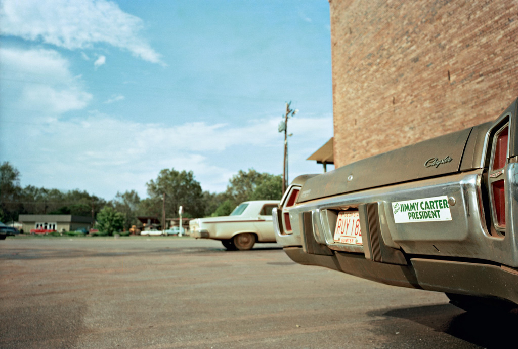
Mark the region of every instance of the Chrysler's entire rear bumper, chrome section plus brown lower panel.
POLYGON ((277 242, 301 264, 395 286, 518 303, 518 163, 506 166, 503 236, 491 232, 483 176, 476 170, 298 203, 289 211, 293 233, 283 234, 276 224, 277 242), (392 203, 440 196, 454 199, 451 220, 395 221, 392 203), (358 210, 363 245, 334 241, 337 212, 344 207, 358 210))

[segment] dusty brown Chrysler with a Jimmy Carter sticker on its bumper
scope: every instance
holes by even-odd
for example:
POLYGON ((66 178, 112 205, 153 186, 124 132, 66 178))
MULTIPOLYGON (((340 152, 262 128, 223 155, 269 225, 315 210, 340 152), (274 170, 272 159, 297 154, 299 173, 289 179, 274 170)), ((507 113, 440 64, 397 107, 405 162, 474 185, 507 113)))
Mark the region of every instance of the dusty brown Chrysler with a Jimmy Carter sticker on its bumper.
POLYGON ((297 177, 272 214, 277 242, 465 310, 517 308, 517 114, 518 100, 494 122, 297 177))

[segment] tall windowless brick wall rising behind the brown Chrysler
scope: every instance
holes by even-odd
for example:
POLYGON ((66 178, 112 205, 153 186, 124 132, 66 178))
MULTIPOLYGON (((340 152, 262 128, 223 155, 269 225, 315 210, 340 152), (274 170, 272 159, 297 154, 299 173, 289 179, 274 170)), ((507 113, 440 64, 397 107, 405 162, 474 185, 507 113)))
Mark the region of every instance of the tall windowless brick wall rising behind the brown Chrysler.
POLYGON ((330 0, 335 166, 496 119, 518 2, 330 0))

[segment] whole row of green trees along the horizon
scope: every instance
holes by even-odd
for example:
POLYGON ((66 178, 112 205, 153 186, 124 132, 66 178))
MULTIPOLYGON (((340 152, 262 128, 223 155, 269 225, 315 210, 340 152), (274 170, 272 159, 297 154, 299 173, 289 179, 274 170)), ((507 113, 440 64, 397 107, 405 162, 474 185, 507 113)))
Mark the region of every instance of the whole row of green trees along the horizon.
POLYGON ((0 165, 0 221, 17 221, 20 214, 65 214, 89 216, 94 219, 111 217, 121 230, 129 230, 138 216, 162 219, 164 193, 166 218, 226 216, 239 203, 248 200, 280 200, 282 177, 260 173, 254 169, 240 170, 229 179, 221 193, 203 191, 192 171, 163 169, 156 179, 146 183, 148 197, 141 199, 135 190, 117 192, 105 200, 85 190, 62 191, 20 186, 20 172, 9 162, 0 165), (98 216, 100 213, 100 216, 98 216))

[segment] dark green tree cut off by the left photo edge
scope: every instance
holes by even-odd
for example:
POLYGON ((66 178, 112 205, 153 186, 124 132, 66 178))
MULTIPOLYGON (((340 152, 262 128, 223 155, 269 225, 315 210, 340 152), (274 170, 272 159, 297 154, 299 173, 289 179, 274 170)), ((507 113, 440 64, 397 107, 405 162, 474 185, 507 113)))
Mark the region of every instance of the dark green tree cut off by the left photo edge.
POLYGON ((0 220, 9 221, 18 219, 23 206, 19 203, 20 172, 8 161, 0 165, 0 220))

